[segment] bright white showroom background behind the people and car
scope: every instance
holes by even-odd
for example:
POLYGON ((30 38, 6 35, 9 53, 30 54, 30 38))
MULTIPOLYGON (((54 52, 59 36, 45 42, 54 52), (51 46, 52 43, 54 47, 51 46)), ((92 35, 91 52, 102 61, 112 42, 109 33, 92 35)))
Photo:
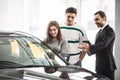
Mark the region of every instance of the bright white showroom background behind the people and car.
MULTIPOLYGON (((120 0, 0 0, 0 31, 23 31, 41 40, 46 36, 46 27, 51 20, 65 22, 65 10, 73 6, 78 10, 76 22, 87 32, 94 43, 98 28, 94 13, 105 11, 108 23, 115 30, 114 57, 117 65, 116 80, 120 80, 120 0)), ((95 56, 86 55, 82 67, 94 72, 95 56), (90 63, 90 65, 89 65, 90 63)))

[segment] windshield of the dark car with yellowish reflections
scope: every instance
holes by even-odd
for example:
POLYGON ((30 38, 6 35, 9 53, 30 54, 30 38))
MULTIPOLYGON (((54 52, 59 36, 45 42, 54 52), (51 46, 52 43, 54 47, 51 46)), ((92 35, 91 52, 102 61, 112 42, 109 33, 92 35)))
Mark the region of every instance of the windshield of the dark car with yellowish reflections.
POLYGON ((0 36, 0 68, 25 66, 66 66, 66 63, 36 37, 0 36))

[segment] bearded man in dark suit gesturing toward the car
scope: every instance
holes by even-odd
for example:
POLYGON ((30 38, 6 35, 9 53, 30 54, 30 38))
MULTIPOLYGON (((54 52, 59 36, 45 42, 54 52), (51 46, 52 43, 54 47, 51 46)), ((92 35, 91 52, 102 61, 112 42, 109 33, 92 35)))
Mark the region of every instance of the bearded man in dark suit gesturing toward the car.
POLYGON ((115 61, 113 56, 113 45, 115 32, 106 22, 106 14, 98 11, 94 14, 94 21, 100 31, 96 35, 95 44, 84 43, 79 45, 88 55, 96 54, 96 72, 115 80, 115 61))

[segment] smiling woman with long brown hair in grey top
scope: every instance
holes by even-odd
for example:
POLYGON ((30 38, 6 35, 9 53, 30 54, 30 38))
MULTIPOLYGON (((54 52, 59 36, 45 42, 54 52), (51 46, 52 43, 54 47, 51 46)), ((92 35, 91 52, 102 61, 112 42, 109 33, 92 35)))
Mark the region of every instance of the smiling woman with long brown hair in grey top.
POLYGON ((67 41, 62 38, 57 21, 49 22, 45 43, 57 53, 68 53, 67 41))

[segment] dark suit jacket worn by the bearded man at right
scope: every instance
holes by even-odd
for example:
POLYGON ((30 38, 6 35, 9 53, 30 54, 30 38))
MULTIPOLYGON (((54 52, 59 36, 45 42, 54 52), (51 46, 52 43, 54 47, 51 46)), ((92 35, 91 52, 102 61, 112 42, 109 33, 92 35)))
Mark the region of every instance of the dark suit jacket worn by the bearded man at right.
POLYGON ((114 71, 116 69, 113 57, 115 32, 107 25, 101 33, 97 33, 95 44, 90 46, 90 55, 96 54, 96 71, 114 71))

